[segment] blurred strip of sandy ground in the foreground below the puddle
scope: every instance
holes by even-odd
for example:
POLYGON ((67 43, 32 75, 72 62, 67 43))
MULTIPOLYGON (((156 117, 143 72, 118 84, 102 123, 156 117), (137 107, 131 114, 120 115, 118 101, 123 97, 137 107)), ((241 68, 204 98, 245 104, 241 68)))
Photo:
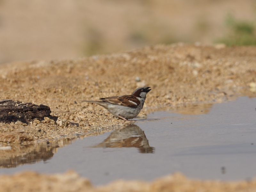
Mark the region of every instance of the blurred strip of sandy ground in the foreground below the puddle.
POLYGON ((64 174, 16 173, 0 176, 0 190, 8 192, 242 192, 256 191, 256 180, 224 182, 191 180, 180 173, 168 175, 152 182, 117 180, 108 185, 94 187, 76 172, 64 174))

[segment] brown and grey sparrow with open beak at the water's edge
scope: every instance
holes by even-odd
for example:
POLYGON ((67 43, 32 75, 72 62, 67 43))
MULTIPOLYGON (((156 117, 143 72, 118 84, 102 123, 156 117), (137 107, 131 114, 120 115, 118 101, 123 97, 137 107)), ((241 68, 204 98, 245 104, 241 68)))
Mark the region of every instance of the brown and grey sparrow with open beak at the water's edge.
POLYGON ((136 89, 131 95, 113 96, 107 98, 100 98, 100 101, 85 101, 96 103, 114 115, 125 121, 132 119, 139 115, 143 108, 147 93, 151 90, 150 87, 140 87, 136 89))

